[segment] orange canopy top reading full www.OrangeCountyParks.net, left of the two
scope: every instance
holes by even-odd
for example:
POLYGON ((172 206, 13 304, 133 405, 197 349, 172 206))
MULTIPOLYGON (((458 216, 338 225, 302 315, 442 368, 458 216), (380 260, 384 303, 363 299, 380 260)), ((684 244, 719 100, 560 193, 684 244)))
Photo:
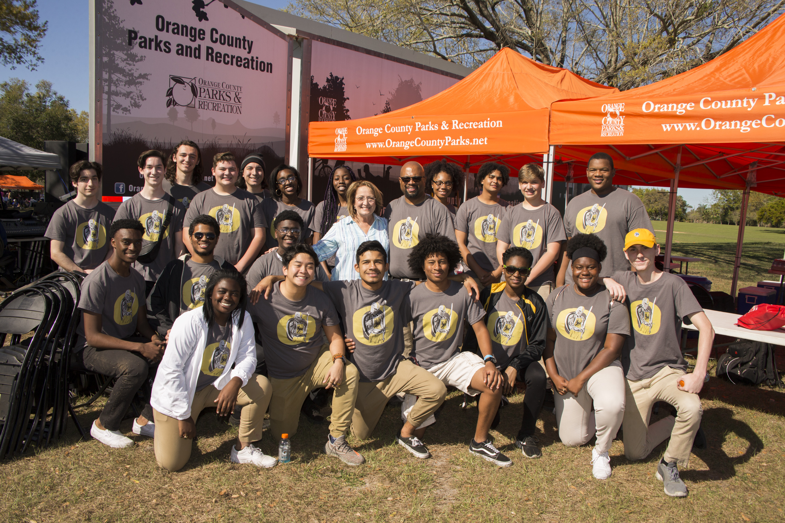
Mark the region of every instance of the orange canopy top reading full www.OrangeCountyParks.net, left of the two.
POLYGON ((311 122, 308 154, 388 165, 447 158, 473 172, 496 161, 517 170, 532 155, 548 151, 553 101, 615 92, 502 49, 460 82, 418 104, 368 118, 311 122))

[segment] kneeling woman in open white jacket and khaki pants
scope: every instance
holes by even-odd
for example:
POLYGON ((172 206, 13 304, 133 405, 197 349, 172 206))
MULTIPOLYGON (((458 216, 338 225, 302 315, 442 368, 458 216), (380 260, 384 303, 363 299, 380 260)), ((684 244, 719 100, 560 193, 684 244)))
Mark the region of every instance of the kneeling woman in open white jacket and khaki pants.
POLYGON ((166 470, 180 470, 188 463, 195 419, 211 406, 219 416, 232 414, 235 405, 243 407, 232 463, 266 468, 278 463, 251 445, 261 439, 272 387, 265 376, 254 374, 254 324, 246 301, 242 275, 215 271, 207 282, 204 305, 181 314, 172 325, 150 401, 155 459, 166 470))

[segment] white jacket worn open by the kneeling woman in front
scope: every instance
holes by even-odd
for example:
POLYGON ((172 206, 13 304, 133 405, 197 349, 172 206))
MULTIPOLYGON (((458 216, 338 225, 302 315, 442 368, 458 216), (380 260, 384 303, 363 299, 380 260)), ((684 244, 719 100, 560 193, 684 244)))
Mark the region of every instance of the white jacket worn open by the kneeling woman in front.
MULTIPOLYGON (((207 322, 202 307, 177 317, 152 385, 150 405, 153 409, 174 419, 191 417, 191 405, 206 344, 207 322)), ((255 369, 254 323, 246 312, 242 329, 238 329, 232 321, 232 352, 229 353, 224 372, 217 377, 213 387, 221 390, 235 376, 243 380, 245 387, 255 369)))

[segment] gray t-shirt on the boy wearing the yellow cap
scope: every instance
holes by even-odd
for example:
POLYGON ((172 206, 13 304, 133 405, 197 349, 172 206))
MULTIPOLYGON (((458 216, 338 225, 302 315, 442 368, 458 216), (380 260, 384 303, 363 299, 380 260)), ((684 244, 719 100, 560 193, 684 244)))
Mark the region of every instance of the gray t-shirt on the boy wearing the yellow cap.
POLYGON ((667 272, 647 285, 631 271, 619 271, 612 278, 624 286, 630 307, 632 336, 622 350, 627 380, 651 378, 666 365, 686 371, 680 345, 681 318, 703 311, 687 283, 667 272))

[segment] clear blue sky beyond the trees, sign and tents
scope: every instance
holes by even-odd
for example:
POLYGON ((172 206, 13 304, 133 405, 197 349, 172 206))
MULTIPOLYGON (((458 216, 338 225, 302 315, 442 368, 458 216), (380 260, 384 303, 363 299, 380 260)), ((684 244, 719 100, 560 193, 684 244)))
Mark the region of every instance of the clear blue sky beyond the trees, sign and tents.
MULTIPOLYGON (((273 9, 283 9, 288 0, 250 0, 273 9)), ((89 29, 88 0, 38 0, 38 13, 49 21, 49 30, 42 41, 41 55, 44 63, 36 71, 23 67, 0 66, 0 81, 22 78, 31 86, 39 80, 49 80, 54 89, 71 102, 77 111, 89 107, 89 29)), ((696 207, 710 191, 706 189, 679 189, 688 205, 696 207)))

